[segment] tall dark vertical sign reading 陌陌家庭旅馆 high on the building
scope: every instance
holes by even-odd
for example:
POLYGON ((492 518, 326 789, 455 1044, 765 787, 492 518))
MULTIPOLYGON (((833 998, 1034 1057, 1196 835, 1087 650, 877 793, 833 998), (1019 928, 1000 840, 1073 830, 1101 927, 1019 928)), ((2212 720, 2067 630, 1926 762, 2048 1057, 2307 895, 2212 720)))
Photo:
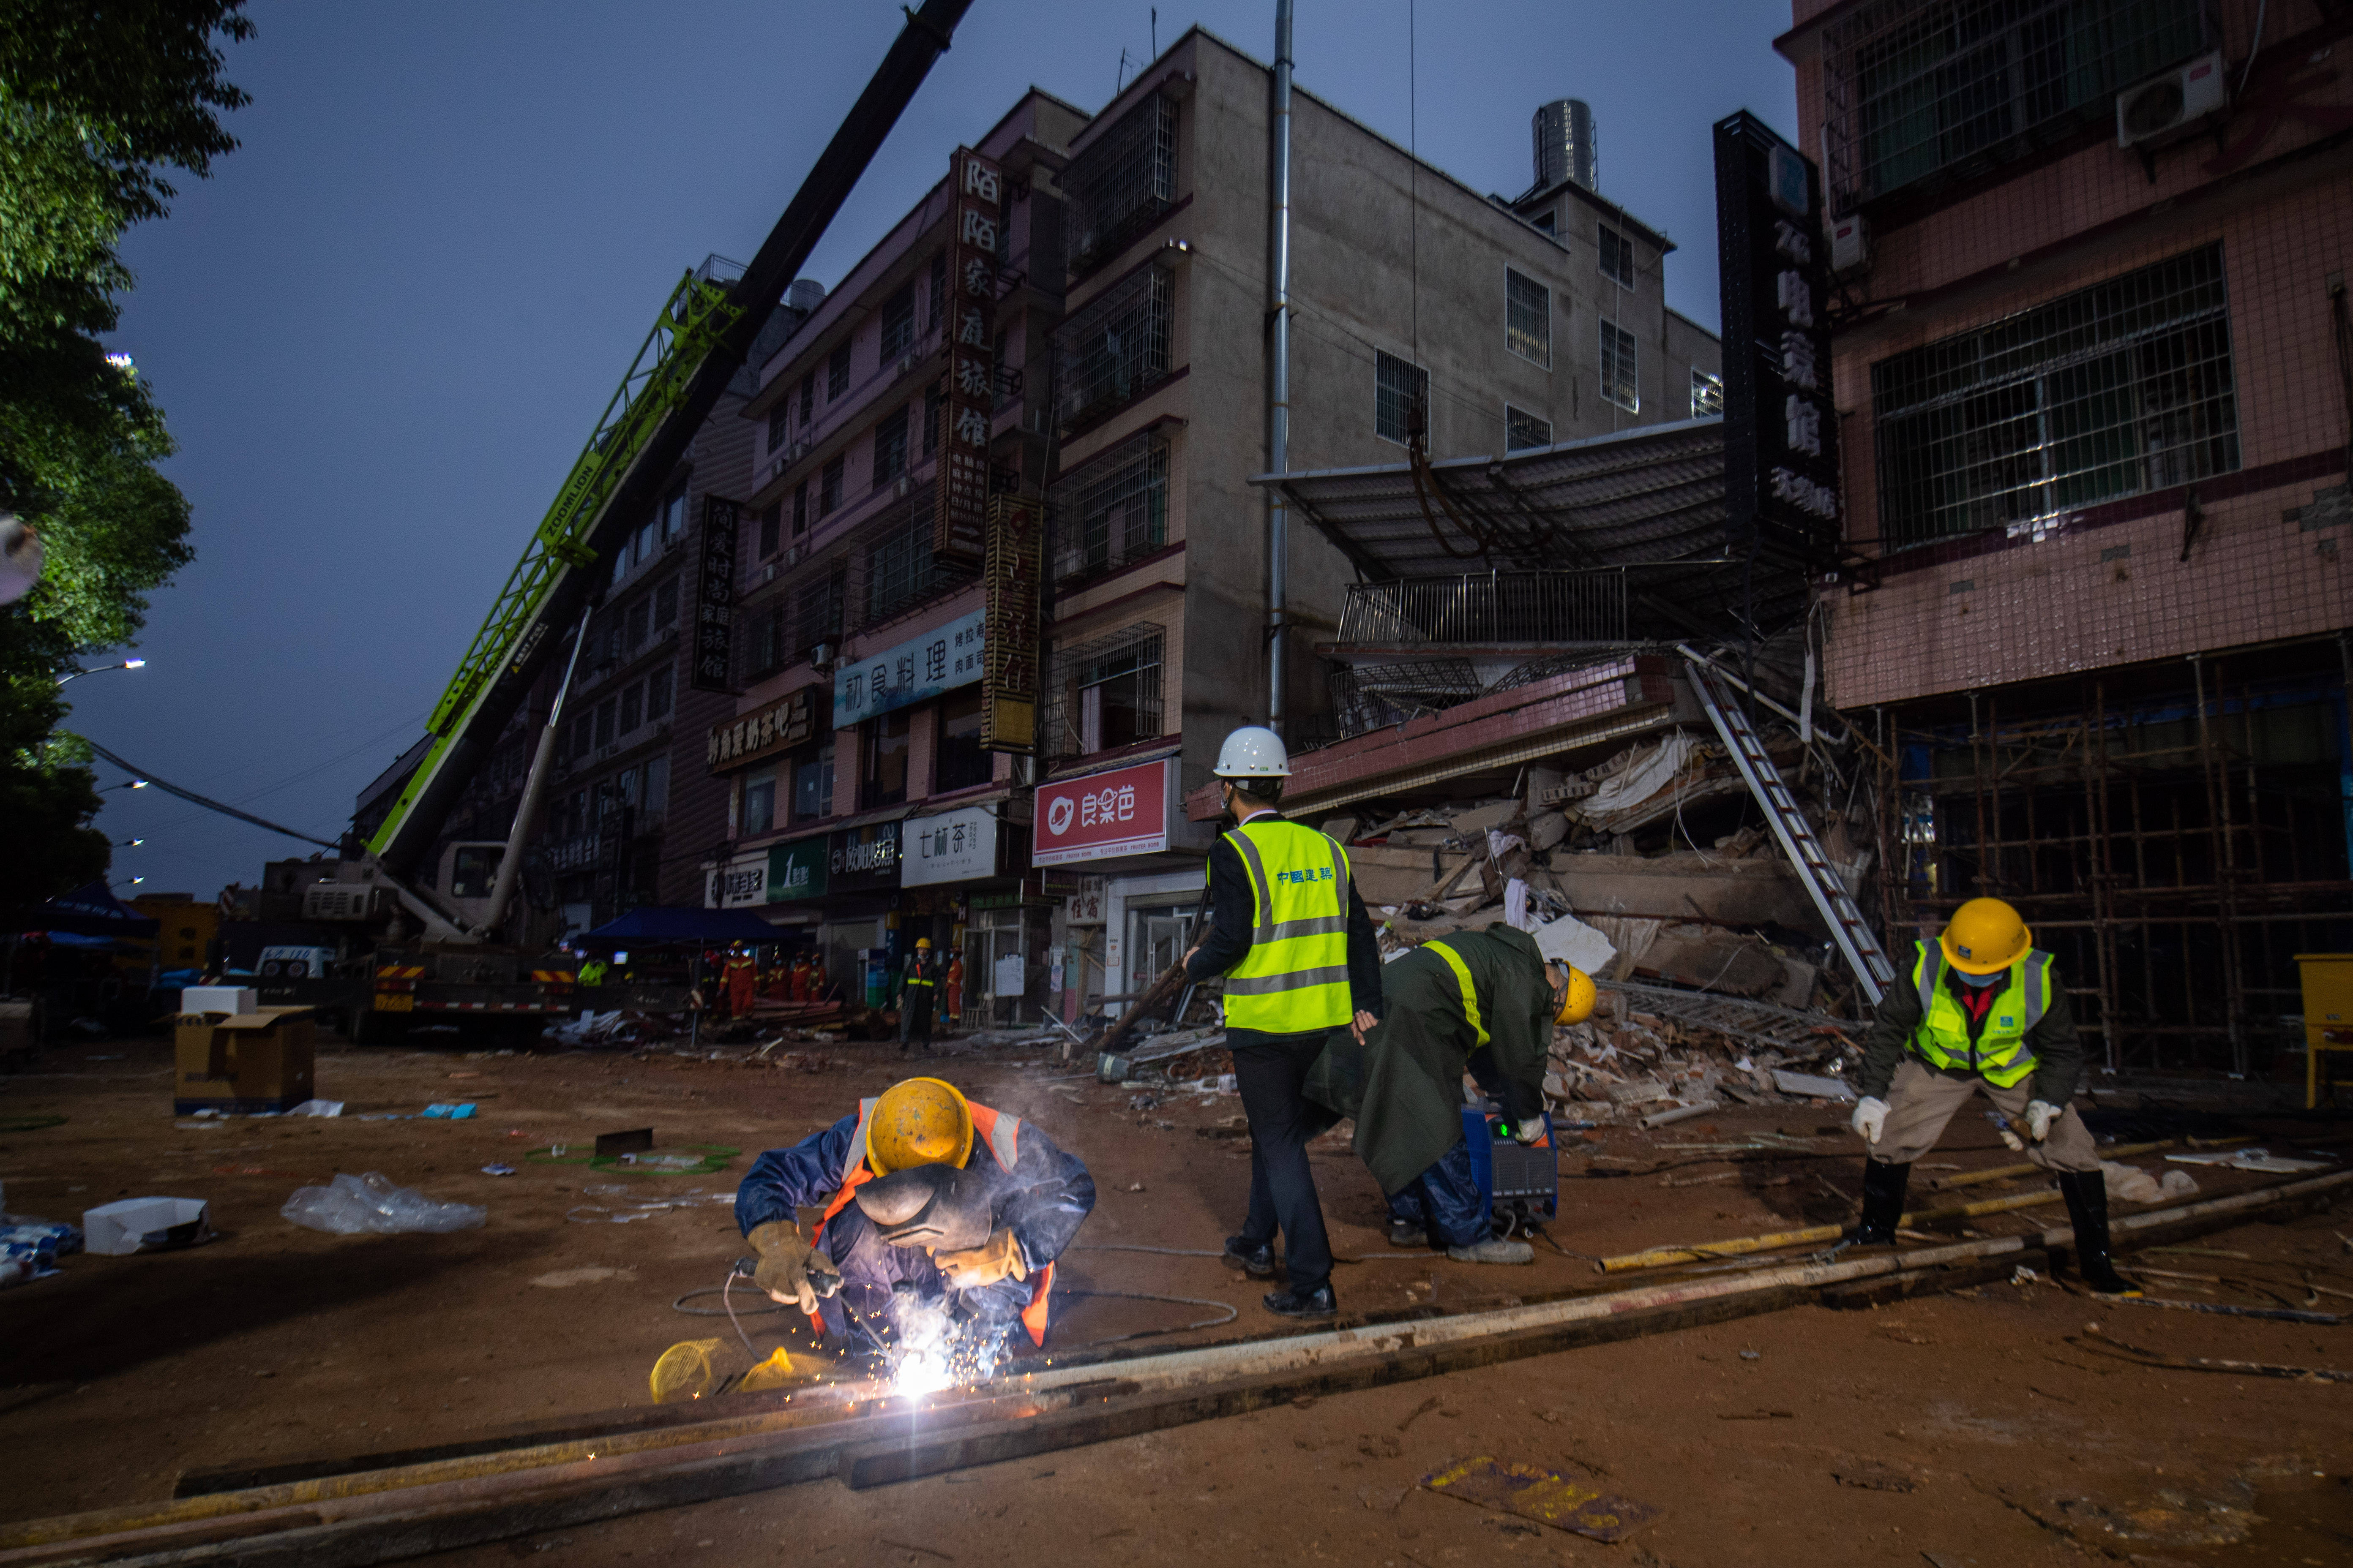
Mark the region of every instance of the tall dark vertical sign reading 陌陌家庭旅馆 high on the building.
POLYGON ((998 226, 1005 172, 955 148, 948 160, 948 397, 939 407, 939 503, 932 555, 981 564, 988 505, 988 421, 998 407, 998 226))

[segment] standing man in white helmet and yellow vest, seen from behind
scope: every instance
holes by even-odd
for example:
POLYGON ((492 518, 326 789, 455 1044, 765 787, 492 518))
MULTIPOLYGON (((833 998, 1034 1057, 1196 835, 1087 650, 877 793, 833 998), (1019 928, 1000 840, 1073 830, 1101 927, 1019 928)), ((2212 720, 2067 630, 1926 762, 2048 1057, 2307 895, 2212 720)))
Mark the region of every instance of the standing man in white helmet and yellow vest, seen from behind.
POLYGON ((1339 1119, 1304 1091, 1332 1030, 1362 1039, 1377 1023, 1381 950, 1348 851, 1275 811, 1292 773, 1282 736, 1233 731, 1214 771, 1235 825, 1209 851, 1209 931, 1186 952, 1186 976, 1226 976, 1226 1046, 1249 1117, 1249 1213, 1226 1239, 1226 1262, 1271 1276, 1280 1229, 1289 1288, 1268 1293, 1266 1309, 1332 1316, 1332 1239, 1308 1138, 1339 1119))

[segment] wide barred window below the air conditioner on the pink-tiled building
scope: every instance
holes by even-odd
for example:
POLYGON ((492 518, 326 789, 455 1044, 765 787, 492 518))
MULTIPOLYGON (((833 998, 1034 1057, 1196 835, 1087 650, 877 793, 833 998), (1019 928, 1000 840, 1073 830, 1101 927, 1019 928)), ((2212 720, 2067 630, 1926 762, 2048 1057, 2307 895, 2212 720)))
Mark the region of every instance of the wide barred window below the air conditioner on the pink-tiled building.
POLYGON ((1892 548, 2240 465, 2221 244, 1871 367, 1892 548))

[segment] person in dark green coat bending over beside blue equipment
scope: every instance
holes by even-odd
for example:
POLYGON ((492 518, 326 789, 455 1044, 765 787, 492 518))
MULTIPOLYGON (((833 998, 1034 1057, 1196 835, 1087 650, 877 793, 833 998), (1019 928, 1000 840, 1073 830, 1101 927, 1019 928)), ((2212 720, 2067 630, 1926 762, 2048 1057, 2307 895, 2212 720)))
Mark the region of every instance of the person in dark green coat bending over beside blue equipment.
POLYGON ((1464 1135, 1464 1072, 1504 1105, 1520 1143, 1548 1135, 1544 1070, 1555 1023, 1593 1016, 1593 980, 1548 964, 1501 922, 1414 947, 1381 971, 1381 1023, 1334 1034, 1308 1093, 1355 1117, 1355 1154, 1388 1194, 1391 1246, 1442 1246, 1457 1262, 1534 1262, 1489 1232, 1464 1135))

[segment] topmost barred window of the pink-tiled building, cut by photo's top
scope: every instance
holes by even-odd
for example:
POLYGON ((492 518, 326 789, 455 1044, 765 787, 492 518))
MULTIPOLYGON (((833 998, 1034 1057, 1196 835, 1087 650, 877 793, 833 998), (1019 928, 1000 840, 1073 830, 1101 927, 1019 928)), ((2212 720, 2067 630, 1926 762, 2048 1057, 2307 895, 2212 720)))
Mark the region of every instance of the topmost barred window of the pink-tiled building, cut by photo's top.
POLYGON ((1878 0, 1824 31, 1831 205, 1967 179, 2207 47, 2198 0, 1878 0))

